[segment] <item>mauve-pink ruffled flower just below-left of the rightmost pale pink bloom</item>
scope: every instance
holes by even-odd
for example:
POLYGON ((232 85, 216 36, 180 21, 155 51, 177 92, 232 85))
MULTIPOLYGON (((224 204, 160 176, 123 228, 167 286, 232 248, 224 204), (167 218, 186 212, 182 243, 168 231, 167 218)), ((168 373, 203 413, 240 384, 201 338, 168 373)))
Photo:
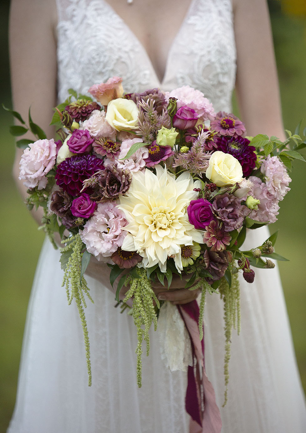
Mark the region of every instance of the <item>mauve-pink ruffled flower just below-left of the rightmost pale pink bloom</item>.
POLYGON ((275 221, 277 221, 276 216, 279 213, 278 200, 274 195, 270 194, 267 185, 265 182, 262 182, 261 179, 256 176, 251 176, 249 180, 253 184, 251 195, 260 200, 258 209, 252 210, 249 217, 262 223, 275 223, 275 221))

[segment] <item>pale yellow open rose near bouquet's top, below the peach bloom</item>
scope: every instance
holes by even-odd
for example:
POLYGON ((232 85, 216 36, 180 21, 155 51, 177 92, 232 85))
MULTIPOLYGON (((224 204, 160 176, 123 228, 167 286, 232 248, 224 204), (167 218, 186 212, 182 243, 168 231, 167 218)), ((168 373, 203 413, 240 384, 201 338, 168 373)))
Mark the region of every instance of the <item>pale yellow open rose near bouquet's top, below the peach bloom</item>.
POLYGON ((105 119, 117 131, 136 129, 138 108, 131 99, 113 99, 107 106, 105 119))

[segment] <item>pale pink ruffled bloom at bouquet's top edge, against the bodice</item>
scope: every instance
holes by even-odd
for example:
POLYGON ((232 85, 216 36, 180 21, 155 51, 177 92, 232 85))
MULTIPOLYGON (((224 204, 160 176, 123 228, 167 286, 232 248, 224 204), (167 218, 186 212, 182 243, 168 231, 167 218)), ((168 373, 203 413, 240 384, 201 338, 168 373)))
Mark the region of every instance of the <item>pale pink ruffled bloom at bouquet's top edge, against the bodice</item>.
POLYGON ((216 116, 213 104, 209 102, 200 90, 196 90, 190 86, 182 86, 171 92, 165 93, 166 100, 170 97, 177 98, 177 107, 180 108, 184 105, 192 108, 203 120, 213 120, 216 116))

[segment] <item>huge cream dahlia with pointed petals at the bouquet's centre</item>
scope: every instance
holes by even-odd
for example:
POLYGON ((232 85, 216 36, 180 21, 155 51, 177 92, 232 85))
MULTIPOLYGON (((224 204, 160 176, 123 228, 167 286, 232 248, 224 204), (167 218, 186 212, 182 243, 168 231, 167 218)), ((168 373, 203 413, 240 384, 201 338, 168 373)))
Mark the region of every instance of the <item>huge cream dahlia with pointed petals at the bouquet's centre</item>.
POLYGON ((203 233, 189 223, 186 213, 190 201, 198 196, 193 189, 200 181, 194 181, 188 172, 175 179, 160 165, 155 170, 156 174, 148 169, 135 172, 127 196, 120 197, 118 207, 128 221, 121 248, 137 251, 144 268, 158 264, 162 272, 172 256, 181 271, 181 245, 203 243, 203 233))

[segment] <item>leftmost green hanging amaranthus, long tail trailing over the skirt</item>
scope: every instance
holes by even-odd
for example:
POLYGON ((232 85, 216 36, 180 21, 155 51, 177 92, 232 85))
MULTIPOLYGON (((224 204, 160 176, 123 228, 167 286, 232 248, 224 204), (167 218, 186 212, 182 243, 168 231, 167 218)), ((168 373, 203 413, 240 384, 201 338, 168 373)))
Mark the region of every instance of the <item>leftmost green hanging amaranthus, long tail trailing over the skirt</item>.
POLYGON ((79 310, 80 319, 83 328, 84 343, 86 350, 86 363, 88 371, 88 386, 92 384, 91 375, 91 362, 90 362, 90 349, 89 349, 89 337, 87 323, 84 313, 84 308, 86 308, 86 301, 84 294, 93 303, 92 297, 89 294, 89 288, 87 286, 85 278, 81 278, 81 264, 82 264, 82 250, 84 249, 84 244, 80 238, 80 235, 74 235, 70 239, 65 239, 62 243, 67 243, 67 245, 61 249, 61 253, 65 254, 70 252, 70 256, 67 261, 67 265, 64 269, 64 279, 62 287, 65 286, 68 298, 68 304, 70 305, 73 298, 75 298, 77 303, 77 308, 79 310))

